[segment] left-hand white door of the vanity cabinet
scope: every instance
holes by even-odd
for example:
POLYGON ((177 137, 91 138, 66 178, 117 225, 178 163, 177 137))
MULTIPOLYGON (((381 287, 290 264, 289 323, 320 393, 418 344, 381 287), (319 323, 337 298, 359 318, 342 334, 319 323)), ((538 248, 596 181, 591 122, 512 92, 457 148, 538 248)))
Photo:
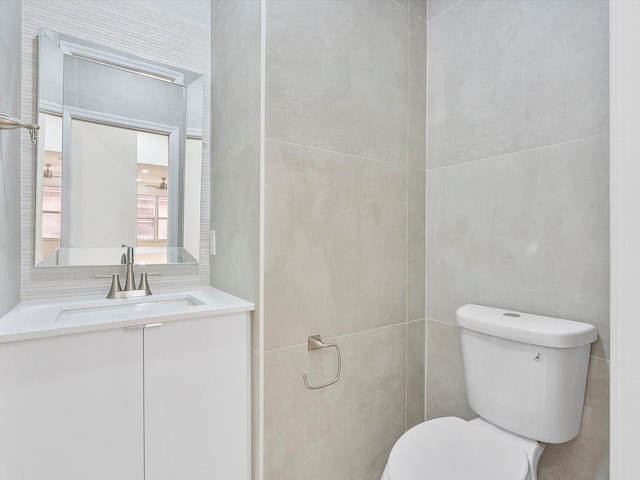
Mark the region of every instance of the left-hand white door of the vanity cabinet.
POLYGON ((0 478, 144 478, 141 344, 123 329, 0 344, 0 478))

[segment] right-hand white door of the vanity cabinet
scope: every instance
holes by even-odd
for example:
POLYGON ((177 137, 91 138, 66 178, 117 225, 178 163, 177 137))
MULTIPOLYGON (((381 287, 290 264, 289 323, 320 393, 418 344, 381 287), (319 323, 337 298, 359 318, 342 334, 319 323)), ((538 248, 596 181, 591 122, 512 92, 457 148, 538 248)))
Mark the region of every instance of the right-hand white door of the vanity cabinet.
POLYGON ((145 479, 249 478, 249 316, 144 329, 145 479))

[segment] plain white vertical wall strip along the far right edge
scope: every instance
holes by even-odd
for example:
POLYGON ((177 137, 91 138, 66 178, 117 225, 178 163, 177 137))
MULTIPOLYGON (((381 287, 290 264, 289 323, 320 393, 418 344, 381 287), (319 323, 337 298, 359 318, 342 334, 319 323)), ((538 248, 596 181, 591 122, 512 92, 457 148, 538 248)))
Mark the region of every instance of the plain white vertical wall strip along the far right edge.
POLYGON ((611 13, 611 478, 640 478, 640 2, 611 13))

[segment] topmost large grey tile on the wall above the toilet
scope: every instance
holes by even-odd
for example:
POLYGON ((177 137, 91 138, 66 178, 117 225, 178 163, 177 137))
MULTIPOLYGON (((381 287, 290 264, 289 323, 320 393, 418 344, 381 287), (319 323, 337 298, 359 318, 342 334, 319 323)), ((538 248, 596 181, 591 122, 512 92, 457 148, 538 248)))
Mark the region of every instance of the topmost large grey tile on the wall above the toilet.
POLYGON ((607 133, 608 8, 466 1, 430 22, 428 168, 607 133))

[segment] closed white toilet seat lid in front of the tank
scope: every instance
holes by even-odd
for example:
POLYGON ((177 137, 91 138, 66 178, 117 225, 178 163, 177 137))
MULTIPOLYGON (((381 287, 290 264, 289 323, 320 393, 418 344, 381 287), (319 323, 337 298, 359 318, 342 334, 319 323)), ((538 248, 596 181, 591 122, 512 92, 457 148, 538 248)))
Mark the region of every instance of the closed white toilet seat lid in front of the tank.
POLYGON ((421 423, 396 442, 385 480, 527 480, 525 451, 503 435, 456 417, 421 423))

